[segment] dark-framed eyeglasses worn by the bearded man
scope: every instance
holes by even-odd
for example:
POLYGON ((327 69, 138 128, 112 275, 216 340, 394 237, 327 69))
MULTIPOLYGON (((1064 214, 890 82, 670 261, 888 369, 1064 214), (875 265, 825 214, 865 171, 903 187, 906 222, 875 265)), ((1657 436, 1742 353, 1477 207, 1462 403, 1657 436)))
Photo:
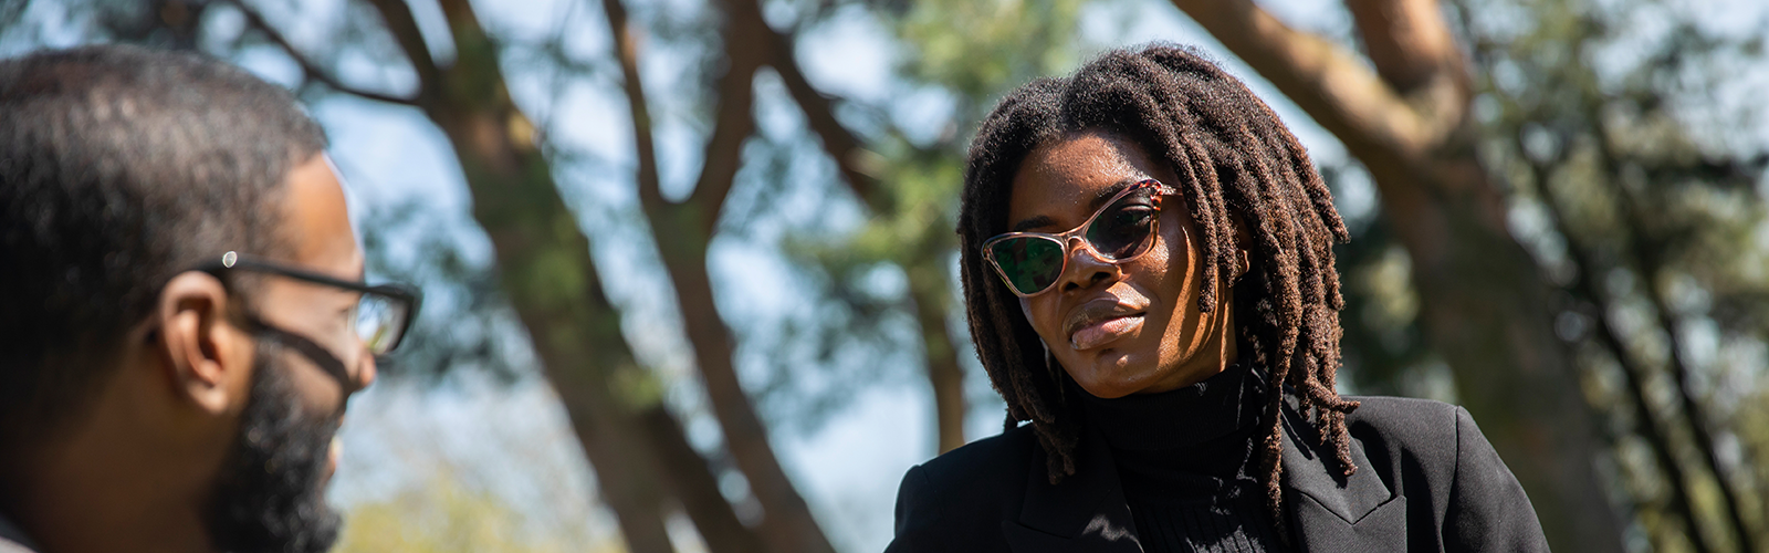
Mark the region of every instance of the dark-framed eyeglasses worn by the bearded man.
MULTIPOLYGON (((400 347, 400 342, 405 339, 405 331, 410 330, 412 319, 417 315, 417 307, 423 305, 423 294, 416 287, 400 284, 368 285, 363 282, 340 280, 264 259, 239 255, 237 252, 226 252, 221 255, 219 262, 211 262, 198 269, 216 276, 230 269, 260 271, 361 292, 363 298, 359 298, 357 305, 350 308, 350 328, 356 337, 361 339, 361 346, 377 358, 400 347)), ((333 378, 345 383, 345 390, 354 388, 343 362, 325 351, 325 347, 302 335, 271 326, 257 317, 251 317, 249 323, 255 326, 253 330, 257 333, 294 347, 311 358, 325 372, 333 372, 333 378)))

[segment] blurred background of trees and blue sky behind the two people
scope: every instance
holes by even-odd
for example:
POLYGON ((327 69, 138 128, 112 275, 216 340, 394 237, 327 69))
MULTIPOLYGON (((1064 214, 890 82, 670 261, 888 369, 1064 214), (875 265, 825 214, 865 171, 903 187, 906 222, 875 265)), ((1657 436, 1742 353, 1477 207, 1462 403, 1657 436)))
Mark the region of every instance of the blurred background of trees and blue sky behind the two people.
POLYGON ((1558 551, 1769 551, 1769 11, 1746 7, 0 0, 0 53, 200 50, 329 126, 371 271, 433 298, 352 427, 416 424, 396 393, 517 404, 352 441, 403 471, 483 425, 458 448, 541 487, 361 480, 334 491, 343 549, 877 549, 906 464, 842 514, 816 482, 863 454, 796 436, 874 390, 927 397, 892 411, 927 411, 900 463, 999 429, 955 294, 964 147, 1005 90, 1153 37, 1247 78, 1334 186, 1346 392, 1467 404, 1558 551), (449 181, 400 184, 419 165, 449 181), (531 450, 547 432, 571 443, 531 450))

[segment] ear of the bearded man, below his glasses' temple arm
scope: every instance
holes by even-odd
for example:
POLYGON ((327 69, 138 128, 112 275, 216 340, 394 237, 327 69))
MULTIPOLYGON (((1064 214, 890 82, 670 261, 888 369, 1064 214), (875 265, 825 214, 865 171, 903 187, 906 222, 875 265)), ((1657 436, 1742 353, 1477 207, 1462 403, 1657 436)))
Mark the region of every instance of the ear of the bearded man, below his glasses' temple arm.
POLYGON ((186 271, 159 291, 154 310, 157 349, 172 392, 209 413, 230 411, 246 399, 253 340, 228 323, 228 291, 214 275, 186 271))

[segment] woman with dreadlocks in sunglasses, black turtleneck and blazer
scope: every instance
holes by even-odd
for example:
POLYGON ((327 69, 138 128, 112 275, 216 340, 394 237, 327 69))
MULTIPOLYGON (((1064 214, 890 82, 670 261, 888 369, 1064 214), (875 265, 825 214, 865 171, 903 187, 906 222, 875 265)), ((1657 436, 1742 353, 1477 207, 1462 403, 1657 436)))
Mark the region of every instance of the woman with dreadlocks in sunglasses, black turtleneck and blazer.
POLYGON ((1334 392, 1344 223, 1297 138, 1198 53, 1021 87, 962 202, 1007 431, 909 470, 888 551, 1548 549, 1467 411, 1334 392))

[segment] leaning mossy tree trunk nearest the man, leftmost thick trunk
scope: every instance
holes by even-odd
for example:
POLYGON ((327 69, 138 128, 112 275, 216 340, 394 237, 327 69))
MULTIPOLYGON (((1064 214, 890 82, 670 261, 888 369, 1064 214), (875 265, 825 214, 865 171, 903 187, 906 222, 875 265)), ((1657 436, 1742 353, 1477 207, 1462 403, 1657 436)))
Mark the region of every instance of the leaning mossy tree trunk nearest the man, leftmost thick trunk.
POLYGON ((442 2, 456 62, 437 67, 403 0, 371 4, 419 74, 414 103, 455 147, 474 218, 492 239, 501 285, 594 464, 626 548, 674 551, 663 516, 670 500, 681 498, 711 551, 757 551, 754 534, 734 523, 716 479, 686 447, 649 370, 621 335, 619 310, 603 294, 589 239, 559 197, 532 124, 511 101, 472 7, 442 2), (635 381, 651 385, 621 386, 635 381))

